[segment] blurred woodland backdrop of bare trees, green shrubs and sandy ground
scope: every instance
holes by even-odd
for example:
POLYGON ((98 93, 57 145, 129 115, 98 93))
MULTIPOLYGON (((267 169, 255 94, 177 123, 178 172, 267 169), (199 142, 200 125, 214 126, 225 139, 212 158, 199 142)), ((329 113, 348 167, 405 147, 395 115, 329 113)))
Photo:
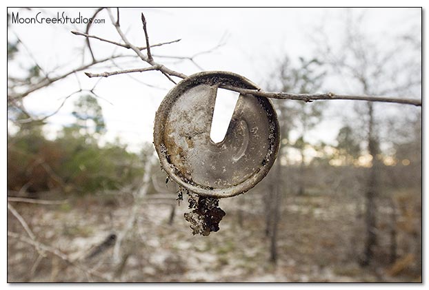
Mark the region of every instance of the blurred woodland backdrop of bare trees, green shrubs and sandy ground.
MULTIPOLYGON (((315 93, 337 83, 421 99, 421 22, 381 49, 365 14, 348 13, 341 41, 315 28, 314 56, 283 54, 261 86, 315 93)), ((220 201, 220 231, 192 236, 186 198, 178 202, 152 144, 136 152, 103 140, 94 87, 64 99, 72 121, 54 137, 44 130, 51 115, 26 108, 30 94, 103 65, 79 41, 89 61, 47 72, 8 21, 8 67, 31 60, 8 72, 8 282, 421 281, 421 107, 341 101, 340 129, 325 143, 309 136, 336 101, 273 101, 281 147, 270 174, 220 201)))

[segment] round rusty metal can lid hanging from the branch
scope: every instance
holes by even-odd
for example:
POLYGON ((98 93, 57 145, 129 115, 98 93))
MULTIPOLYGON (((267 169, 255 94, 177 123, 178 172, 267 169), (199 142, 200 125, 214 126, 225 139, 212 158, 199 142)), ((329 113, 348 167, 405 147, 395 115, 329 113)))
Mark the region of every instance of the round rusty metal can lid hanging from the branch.
POLYGON ((161 166, 179 185, 201 196, 225 198, 254 187, 279 149, 279 123, 270 100, 240 94, 226 136, 210 139, 217 88, 258 89, 232 72, 200 72, 163 99, 154 123, 161 166))

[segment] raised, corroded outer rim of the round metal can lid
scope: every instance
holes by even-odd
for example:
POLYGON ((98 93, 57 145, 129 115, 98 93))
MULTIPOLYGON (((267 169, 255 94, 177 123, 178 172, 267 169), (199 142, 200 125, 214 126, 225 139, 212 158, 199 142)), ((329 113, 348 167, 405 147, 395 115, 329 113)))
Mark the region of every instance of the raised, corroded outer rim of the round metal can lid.
POLYGON ((176 86, 168 92, 168 94, 164 97, 161 105, 157 110, 154 121, 154 147, 159 156, 159 160, 161 163, 161 167, 163 170, 181 187, 188 189, 189 191, 199 194, 201 196, 209 196, 215 198, 226 198, 230 196, 237 196, 239 194, 243 194, 252 187, 255 187, 259 181, 261 181, 270 171, 270 168, 275 162, 277 158, 277 152, 279 151, 279 121, 277 119, 277 113, 272 105, 270 99, 266 99, 262 96, 255 96, 257 99, 266 103, 266 110, 270 110, 271 117, 270 123, 275 125, 275 136, 274 140, 271 142, 272 146, 272 154, 268 158, 268 162, 265 165, 259 167, 259 170, 255 172, 250 178, 244 180, 242 183, 237 185, 233 185, 231 187, 225 189, 213 189, 202 187, 201 185, 197 185, 192 180, 183 180, 181 176, 179 176, 176 172, 174 172, 174 165, 168 162, 168 158, 163 152, 165 151, 165 143, 163 143, 163 124, 168 117, 168 112, 170 107, 176 101, 176 99, 188 88, 194 87, 200 84, 221 84, 221 85, 234 85, 236 87, 242 87, 247 89, 257 90, 259 87, 252 83, 252 81, 246 79, 245 77, 235 74, 233 72, 223 72, 223 71, 211 71, 211 72, 199 72, 197 74, 192 74, 188 76, 186 79, 180 81, 176 86), (162 148, 164 147, 164 148, 162 148))

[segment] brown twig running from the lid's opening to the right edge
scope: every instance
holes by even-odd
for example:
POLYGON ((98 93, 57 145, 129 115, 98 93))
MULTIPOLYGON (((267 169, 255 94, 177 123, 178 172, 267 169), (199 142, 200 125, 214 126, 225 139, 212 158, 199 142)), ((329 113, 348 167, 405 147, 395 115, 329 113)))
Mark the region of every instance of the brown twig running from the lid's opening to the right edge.
POLYGON ((241 87, 234 87, 231 85, 220 85, 226 90, 232 90, 241 94, 252 94, 254 96, 265 96, 270 99, 281 99, 281 100, 299 100, 306 103, 316 100, 355 100, 355 101, 372 101, 372 102, 386 102, 386 103, 401 103, 406 105, 415 105, 421 107, 421 100, 417 99, 404 99, 396 98, 391 96, 355 96, 355 95, 343 95, 334 94, 328 92, 326 94, 292 94, 288 92, 265 92, 262 90, 249 90, 241 87))

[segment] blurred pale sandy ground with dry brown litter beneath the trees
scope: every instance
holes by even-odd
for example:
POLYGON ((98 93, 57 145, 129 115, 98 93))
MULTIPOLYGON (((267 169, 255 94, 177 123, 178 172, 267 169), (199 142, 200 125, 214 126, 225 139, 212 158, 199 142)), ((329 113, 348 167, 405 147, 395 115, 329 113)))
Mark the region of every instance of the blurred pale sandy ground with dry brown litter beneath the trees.
MULTIPOLYGON (((174 197, 173 197, 174 198, 174 197)), ((176 207, 146 198, 134 227, 122 241, 115 260, 114 247, 86 259, 103 240, 119 233, 130 216, 129 196, 74 198, 66 205, 14 203, 40 242, 70 258, 123 282, 417 282, 412 263, 392 272, 386 238, 379 231, 374 265, 359 267, 363 222, 350 200, 335 196, 288 196, 283 200, 279 225, 278 261, 269 262, 270 240, 264 233, 260 196, 221 200, 226 216, 210 236, 192 236, 183 219, 186 202, 176 207), (238 210, 243 210, 239 225, 238 210)), ((155 200, 156 201, 156 200, 155 200)), ((380 209, 383 211, 383 208, 380 209)), ((385 210, 386 211, 386 210, 385 210)), ((381 218, 382 220, 382 218, 381 218)), ((8 231, 25 236, 8 214, 8 231)), ((406 256, 406 252, 399 255, 406 256)), ((51 254, 38 258, 34 247, 8 238, 9 282, 102 282, 51 254)))

